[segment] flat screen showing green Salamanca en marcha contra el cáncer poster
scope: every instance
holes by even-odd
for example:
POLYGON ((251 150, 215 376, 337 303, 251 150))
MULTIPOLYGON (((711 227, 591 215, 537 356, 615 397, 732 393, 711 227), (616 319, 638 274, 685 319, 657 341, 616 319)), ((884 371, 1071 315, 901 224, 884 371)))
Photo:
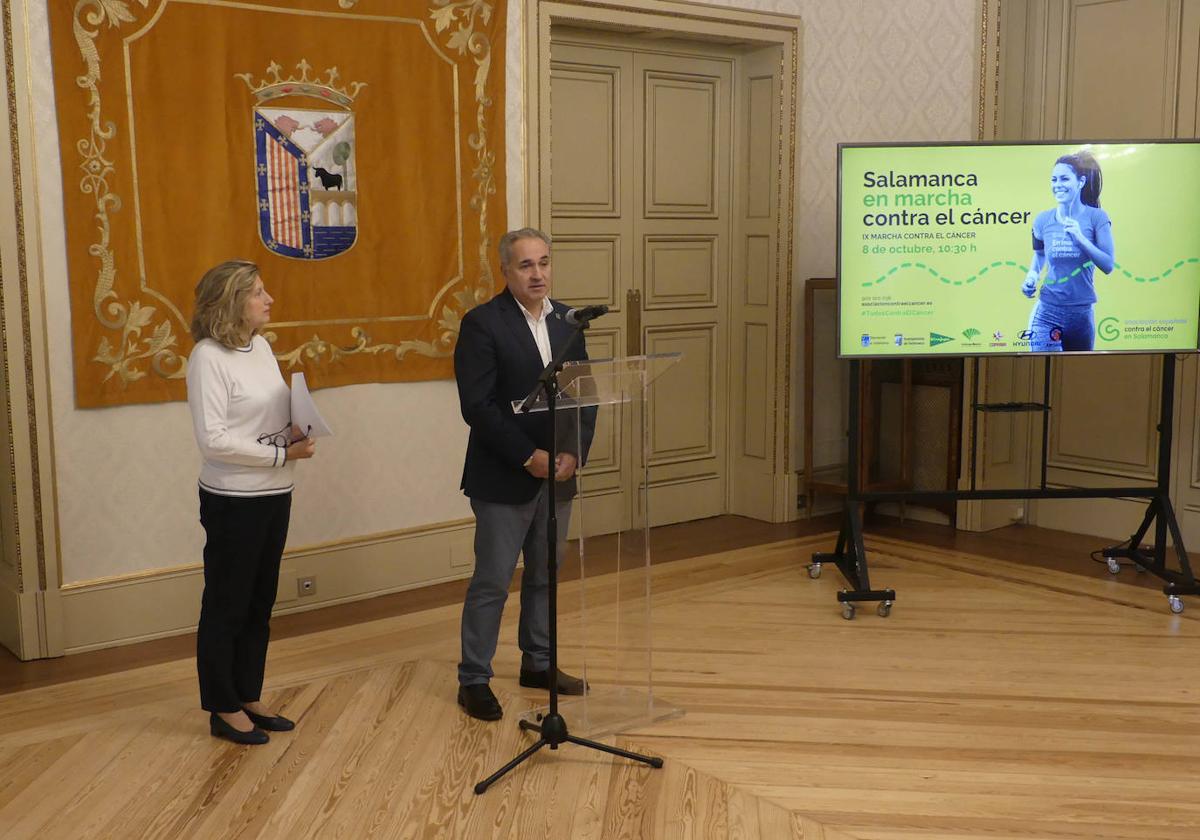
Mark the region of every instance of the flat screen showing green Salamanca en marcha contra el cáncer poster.
POLYGON ((838 355, 1195 352, 1200 143, 838 146, 838 355))

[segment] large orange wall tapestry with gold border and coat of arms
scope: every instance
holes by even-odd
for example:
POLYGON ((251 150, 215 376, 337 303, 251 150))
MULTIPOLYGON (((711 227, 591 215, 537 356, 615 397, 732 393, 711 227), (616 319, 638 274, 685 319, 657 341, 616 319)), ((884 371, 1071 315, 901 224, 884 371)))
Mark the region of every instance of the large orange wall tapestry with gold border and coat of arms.
POLYGON ((185 398, 251 259, 314 388, 452 374, 499 286, 505 0, 52 0, 76 402, 185 398))

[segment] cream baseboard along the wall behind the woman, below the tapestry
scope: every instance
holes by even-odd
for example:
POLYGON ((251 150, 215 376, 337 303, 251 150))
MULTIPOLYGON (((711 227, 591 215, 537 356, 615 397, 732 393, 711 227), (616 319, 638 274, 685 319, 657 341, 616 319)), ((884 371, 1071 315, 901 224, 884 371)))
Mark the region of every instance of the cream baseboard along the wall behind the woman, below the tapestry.
MULTIPOLYGON (((288 552, 280 571, 275 614, 306 612, 378 595, 461 580, 474 563, 474 520, 372 536, 353 545, 288 552), (316 578, 300 598, 296 580, 316 578)), ((169 569, 62 589, 65 652, 146 642, 196 630, 204 571, 169 569)))

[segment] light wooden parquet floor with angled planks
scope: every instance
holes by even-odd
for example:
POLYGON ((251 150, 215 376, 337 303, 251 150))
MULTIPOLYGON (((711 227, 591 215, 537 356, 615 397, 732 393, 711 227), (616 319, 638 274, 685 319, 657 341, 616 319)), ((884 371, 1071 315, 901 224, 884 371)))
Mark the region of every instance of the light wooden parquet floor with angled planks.
POLYGON ((686 714, 614 743, 661 770, 564 745, 474 796, 545 695, 516 685, 512 610, 505 719, 467 719, 450 606, 272 643, 299 726, 262 748, 208 734, 190 660, 0 696, 0 836, 1200 838, 1200 605, 869 538, 899 598, 846 622, 835 570, 804 570, 830 542, 654 568, 656 692, 686 714))

